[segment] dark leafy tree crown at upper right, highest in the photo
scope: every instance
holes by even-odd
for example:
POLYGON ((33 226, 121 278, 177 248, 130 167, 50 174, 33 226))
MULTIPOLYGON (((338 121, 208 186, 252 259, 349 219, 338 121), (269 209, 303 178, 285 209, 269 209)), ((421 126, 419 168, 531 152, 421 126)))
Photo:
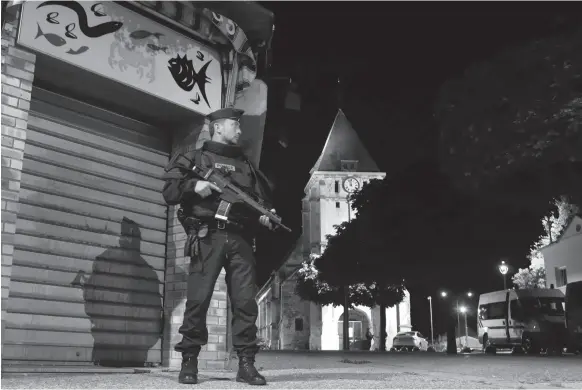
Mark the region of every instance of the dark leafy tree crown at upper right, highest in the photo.
POLYGON ((536 211, 581 196, 581 45, 578 28, 508 48, 442 86, 440 162, 455 186, 536 211))

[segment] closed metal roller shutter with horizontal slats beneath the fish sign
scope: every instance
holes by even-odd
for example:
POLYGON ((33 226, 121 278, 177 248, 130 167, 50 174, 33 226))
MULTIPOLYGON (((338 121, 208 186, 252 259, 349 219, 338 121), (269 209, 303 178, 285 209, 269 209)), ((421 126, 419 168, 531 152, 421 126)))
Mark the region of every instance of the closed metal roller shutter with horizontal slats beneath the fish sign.
POLYGON ((33 91, 5 363, 161 362, 164 133, 33 91))

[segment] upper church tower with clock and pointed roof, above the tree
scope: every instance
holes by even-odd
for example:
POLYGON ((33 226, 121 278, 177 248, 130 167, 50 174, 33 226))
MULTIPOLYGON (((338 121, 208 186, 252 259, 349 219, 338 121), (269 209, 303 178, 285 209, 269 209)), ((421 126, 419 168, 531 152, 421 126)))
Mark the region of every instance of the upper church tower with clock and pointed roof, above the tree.
POLYGON ((304 254, 321 254, 326 236, 335 225, 354 218, 348 195, 372 179, 383 179, 385 172, 362 144, 340 109, 331 126, 325 146, 310 171, 303 198, 304 254))

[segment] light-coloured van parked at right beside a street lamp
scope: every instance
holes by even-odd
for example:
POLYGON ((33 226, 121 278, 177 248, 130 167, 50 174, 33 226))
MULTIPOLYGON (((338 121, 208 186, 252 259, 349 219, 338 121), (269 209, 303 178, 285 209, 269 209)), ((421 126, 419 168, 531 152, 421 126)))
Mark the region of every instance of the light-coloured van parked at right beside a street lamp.
POLYGON ((503 290, 479 297, 479 342, 488 353, 521 347, 526 353, 566 345, 564 293, 557 289, 503 290))

